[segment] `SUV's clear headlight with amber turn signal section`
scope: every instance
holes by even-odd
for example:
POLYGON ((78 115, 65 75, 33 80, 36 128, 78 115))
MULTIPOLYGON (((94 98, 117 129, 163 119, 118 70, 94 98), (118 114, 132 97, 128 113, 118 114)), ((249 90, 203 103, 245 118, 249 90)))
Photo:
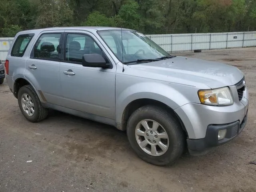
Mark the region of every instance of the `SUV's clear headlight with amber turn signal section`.
POLYGON ((234 99, 228 87, 200 90, 198 91, 198 96, 201 104, 205 105, 226 106, 234 103, 234 99))

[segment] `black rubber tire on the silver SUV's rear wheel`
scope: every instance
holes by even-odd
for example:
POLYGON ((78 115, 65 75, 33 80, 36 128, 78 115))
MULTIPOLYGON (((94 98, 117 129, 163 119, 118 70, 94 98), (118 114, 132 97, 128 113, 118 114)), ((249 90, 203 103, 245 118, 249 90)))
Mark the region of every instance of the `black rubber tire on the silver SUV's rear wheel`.
MULTIPOLYGON (((30 122, 39 122, 39 121, 44 120, 48 116, 48 109, 44 108, 42 106, 36 92, 34 91, 34 89, 31 85, 26 85, 26 86, 23 86, 20 88, 20 90, 18 91, 18 104, 19 104, 22 114, 30 122), (30 110, 30 112, 31 112, 30 115, 27 114, 27 112, 24 110, 24 107, 22 106, 22 104, 24 104, 24 102, 22 102, 22 98, 24 98, 25 96, 27 98, 30 97, 32 100, 32 104, 34 105, 34 113, 33 114, 31 112, 31 110, 30 110)), ((32 106, 32 105, 30 105, 30 106, 32 106)), ((27 106, 25 108, 27 108, 27 106)))

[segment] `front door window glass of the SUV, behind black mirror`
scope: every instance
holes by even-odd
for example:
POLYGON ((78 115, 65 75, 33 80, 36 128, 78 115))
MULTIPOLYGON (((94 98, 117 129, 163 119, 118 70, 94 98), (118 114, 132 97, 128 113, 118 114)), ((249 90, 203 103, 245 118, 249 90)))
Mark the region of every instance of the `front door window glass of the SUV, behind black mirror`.
POLYGON ((104 56, 102 50, 90 36, 84 34, 67 34, 65 51, 66 61, 82 63, 84 54, 93 53, 104 56))

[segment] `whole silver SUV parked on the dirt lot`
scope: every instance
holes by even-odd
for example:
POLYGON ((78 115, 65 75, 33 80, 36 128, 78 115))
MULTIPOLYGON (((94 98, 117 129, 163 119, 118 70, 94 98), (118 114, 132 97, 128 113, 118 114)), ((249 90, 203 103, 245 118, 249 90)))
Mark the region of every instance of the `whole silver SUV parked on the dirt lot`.
POLYGON ((140 158, 172 164, 243 130, 244 74, 234 66, 172 56, 144 34, 65 27, 16 34, 6 80, 22 114, 39 122, 52 108, 126 130, 140 158))

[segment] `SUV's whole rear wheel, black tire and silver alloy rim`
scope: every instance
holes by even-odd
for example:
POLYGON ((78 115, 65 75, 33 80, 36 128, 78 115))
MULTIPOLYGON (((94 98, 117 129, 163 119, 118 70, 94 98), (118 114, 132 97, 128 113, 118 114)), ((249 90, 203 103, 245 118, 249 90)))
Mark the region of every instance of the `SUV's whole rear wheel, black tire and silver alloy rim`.
POLYGON ((31 85, 26 85, 18 91, 18 104, 22 114, 30 122, 39 122, 48 115, 31 85))

